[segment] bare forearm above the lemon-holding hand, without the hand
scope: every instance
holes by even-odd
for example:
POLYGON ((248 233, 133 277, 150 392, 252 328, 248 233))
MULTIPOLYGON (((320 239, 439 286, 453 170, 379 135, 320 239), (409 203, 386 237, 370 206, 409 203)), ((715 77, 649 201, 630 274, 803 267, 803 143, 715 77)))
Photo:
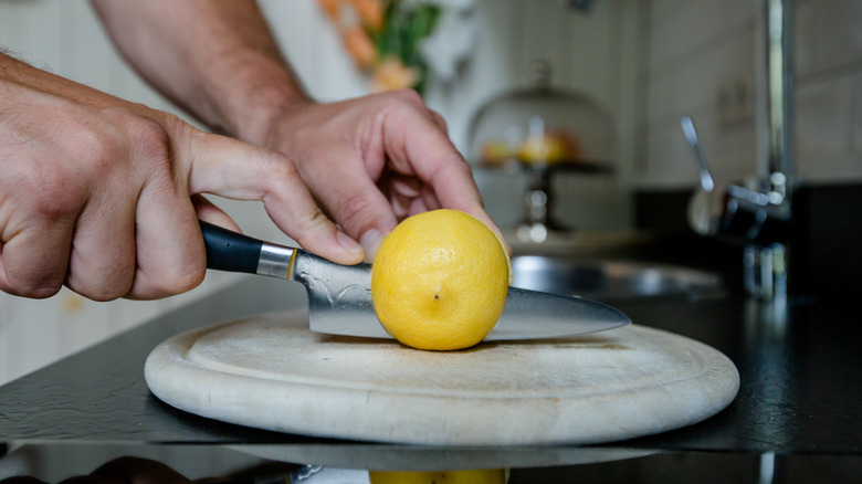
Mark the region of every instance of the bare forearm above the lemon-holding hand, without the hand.
POLYGON ((263 144, 308 102, 252 0, 93 0, 123 55, 214 130, 263 144))

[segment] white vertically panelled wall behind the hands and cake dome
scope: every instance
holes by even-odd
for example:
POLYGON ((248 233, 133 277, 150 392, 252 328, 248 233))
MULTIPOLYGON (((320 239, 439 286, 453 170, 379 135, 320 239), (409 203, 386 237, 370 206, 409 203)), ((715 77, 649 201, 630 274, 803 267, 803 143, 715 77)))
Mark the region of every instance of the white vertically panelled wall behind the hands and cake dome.
MULTIPOLYGON (((261 1, 273 30, 308 91, 334 101, 367 92, 315 0, 261 1)), ((530 64, 551 64, 555 85, 576 88, 605 103, 617 122, 619 171, 606 177, 561 177, 559 217, 579 227, 626 227, 624 187, 631 173, 638 128, 633 106, 642 84, 640 17, 645 2, 600 0, 588 14, 557 0, 477 0, 475 52, 458 83, 434 84, 429 104, 446 118, 465 150, 470 118, 479 106, 528 84, 530 64)), ((127 69, 106 41, 84 0, 0 0, 0 45, 38 66, 155 108, 175 111, 127 69)), ((182 115, 181 113, 179 113, 182 115)), ((501 225, 522 214, 523 179, 477 172, 488 211, 501 225)), ((257 204, 219 200, 246 233, 291 243, 257 204)), ((202 287, 158 302, 94 303, 63 291, 46 301, 0 293, 0 383, 156 317, 177 305, 236 281, 210 273, 202 287)))

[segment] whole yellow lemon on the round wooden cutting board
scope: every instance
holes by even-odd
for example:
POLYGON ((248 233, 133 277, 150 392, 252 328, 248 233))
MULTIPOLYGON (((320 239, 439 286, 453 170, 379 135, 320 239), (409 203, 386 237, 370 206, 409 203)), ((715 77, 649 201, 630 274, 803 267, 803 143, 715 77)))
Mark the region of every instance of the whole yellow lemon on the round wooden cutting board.
POLYGON ((485 223, 458 210, 412 215, 387 235, 371 267, 383 328, 419 349, 469 348, 496 325, 511 262, 485 223))

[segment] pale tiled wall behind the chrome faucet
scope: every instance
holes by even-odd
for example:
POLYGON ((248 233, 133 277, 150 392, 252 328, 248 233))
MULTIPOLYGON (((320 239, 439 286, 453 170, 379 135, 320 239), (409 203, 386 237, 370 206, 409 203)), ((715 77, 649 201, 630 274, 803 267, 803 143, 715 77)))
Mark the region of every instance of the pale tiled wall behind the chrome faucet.
MULTIPOLYGON (((653 0, 646 150, 635 185, 694 186, 680 116, 719 180, 756 175, 756 39, 763 0, 653 0), (734 97, 736 96, 736 97, 734 97)), ((803 182, 862 180, 862 2, 797 0, 796 154, 803 182)))

